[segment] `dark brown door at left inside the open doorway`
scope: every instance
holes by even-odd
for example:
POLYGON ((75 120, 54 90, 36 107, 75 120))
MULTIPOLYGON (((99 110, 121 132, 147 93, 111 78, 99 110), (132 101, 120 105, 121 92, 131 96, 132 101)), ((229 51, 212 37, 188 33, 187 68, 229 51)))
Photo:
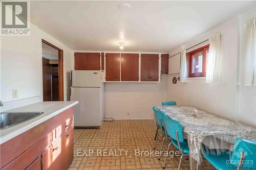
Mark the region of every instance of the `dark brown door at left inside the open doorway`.
POLYGON ((52 101, 52 81, 51 81, 50 60, 42 58, 42 91, 43 100, 52 101))

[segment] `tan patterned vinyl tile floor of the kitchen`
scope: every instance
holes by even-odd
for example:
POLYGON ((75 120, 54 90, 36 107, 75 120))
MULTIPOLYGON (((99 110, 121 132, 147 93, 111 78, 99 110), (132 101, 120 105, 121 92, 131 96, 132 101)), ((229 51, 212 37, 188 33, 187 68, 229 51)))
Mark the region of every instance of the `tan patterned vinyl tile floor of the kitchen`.
MULTIPOLYGON (((74 130, 74 160, 69 167, 73 169, 162 169, 164 155, 158 160, 150 152, 161 147, 159 135, 156 150, 156 124, 154 120, 114 120, 103 122, 100 129, 74 130), (126 153, 125 153, 126 152, 126 153)), ((167 140, 163 150, 168 147, 167 140)), ((170 149, 178 151, 174 146, 170 149)), ((167 158, 165 169, 178 169, 179 156, 167 158)), ((189 162, 183 157, 181 169, 189 169, 189 162)), ((204 160, 201 169, 207 169, 204 160)), ((215 169, 210 165, 209 169, 215 169)))

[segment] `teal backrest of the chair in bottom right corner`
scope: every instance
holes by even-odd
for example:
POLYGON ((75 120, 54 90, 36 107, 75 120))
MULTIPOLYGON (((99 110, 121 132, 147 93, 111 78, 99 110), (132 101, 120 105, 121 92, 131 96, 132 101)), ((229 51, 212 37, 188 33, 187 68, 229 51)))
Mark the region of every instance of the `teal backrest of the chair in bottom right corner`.
POLYGON ((256 168, 256 141, 238 138, 234 143, 230 163, 238 166, 242 152, 244 152, 245 158, 241 169, 256 168))

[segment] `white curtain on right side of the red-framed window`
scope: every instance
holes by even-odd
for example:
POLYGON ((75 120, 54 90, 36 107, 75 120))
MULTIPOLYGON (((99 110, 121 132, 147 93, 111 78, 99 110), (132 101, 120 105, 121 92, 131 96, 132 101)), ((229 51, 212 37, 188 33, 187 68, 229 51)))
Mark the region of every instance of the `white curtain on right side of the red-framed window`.
POLYGON ((221 81, 221 34, 216 33, 209 38, 210 46, 206 64, 206 83, 221 81))

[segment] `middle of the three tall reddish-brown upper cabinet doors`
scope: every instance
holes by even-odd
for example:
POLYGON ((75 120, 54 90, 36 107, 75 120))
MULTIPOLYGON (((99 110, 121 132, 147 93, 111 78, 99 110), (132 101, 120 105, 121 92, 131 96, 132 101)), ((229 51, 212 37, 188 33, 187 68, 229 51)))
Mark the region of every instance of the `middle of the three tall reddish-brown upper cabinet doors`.
POLYGON ((139 54, 121 54, 121 81, 139 81, 139 54))

